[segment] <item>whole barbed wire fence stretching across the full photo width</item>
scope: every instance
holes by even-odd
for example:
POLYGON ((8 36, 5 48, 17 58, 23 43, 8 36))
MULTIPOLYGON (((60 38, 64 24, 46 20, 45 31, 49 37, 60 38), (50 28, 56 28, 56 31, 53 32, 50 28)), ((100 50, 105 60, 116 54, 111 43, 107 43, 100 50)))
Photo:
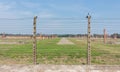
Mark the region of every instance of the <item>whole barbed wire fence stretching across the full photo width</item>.
POLYGON ((120 18, 91 18, 88 27, 87 18, 38 17, 34 33, 32 17, 0 18, 0 63, 120 65, 119 23, 120 18), (87 42, 88 28, 91 38, 87 42), (57 45, 60 37, 75 45, 57 45))

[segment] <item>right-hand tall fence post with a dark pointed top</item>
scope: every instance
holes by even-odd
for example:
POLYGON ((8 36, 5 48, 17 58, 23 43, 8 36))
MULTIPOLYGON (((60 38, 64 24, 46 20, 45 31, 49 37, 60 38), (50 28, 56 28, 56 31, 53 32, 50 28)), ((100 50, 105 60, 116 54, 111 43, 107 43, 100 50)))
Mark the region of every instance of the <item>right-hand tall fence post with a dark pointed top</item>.
POLYGON ((91 16, 88 14, 87 16, 88 19, 88 34, 87 34, 87 64, 91 64, 91 34, 90 34, 90 19, 91 16))

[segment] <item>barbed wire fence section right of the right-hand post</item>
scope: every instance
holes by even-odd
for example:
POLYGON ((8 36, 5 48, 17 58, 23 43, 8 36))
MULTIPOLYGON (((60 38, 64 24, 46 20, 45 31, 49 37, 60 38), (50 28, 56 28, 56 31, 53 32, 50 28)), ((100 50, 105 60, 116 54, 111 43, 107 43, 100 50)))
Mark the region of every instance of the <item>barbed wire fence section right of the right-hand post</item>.
POLYGON ((119 23, 119 18, 93 19, 91 22, 92 64, 120 65, 119 23))

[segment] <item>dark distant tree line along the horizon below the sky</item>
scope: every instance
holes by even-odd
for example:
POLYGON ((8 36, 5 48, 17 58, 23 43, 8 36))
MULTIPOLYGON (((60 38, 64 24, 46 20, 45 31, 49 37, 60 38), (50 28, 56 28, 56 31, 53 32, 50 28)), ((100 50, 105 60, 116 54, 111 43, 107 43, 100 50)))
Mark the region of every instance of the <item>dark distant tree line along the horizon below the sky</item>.
MULTIPOLYGON (((1 33, 0 36, 32 36, 32 34, 3 34, 1 33)), ((37 36, 57 36, 57 37, 87 37, 87 34, 37 34, 37 36)), ((111 35, 107 35, 107 37, 114 38, 120 38, 120 34, 118 33, 113 33, 111 35)), ((97 37, 97 38, 102 38, 104 37, 103 34, 92 34, 91 37, 97 37)))

